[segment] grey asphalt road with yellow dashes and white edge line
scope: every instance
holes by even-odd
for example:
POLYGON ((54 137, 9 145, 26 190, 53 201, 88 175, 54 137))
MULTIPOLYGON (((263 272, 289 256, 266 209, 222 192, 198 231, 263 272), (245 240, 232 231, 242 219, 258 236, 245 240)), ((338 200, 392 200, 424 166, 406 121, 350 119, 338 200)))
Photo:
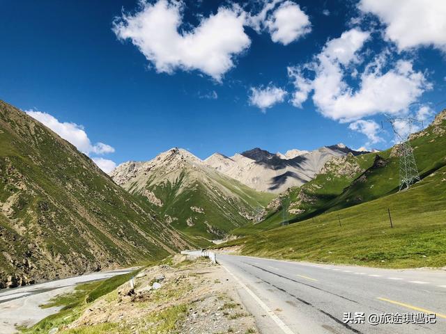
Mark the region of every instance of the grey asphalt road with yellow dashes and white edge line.
POLYGON ((333 266, 220 254, 217 262, 240 283, 240 296, 262 333, 446 333, 443 270, 333 266), (351 313, 351 321, 345 323, 344 312, 351 313), (426 324, 432 321, 430 313, 436 313, 435 324, 426 324))

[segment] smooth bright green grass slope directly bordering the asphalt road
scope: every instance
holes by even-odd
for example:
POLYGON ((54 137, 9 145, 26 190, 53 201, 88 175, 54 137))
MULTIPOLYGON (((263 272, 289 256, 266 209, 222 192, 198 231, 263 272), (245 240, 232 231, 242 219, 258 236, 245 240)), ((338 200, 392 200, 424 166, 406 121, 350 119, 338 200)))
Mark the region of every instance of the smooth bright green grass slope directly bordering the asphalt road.
POLYGON ((244 255, 376 267, 446 266, 446 167, 408 191, 221 246, 244 255), (387 208, 394 228, 390 228, 387 208), (339 217, 338 217, 339 215, 339 217), (341 226, 339 226, 339 218, 341 226))

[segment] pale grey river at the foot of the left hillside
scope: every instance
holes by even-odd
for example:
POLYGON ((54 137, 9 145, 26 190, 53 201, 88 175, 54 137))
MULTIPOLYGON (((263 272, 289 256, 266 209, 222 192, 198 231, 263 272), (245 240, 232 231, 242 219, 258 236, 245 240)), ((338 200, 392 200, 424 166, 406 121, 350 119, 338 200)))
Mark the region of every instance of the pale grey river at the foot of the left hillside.
POLYGON ((115 271, 103 271, 88 275, 52 280, 47 283, 16 287, 15 289, 0 290, 0 333, 17 333, 16 325, 31 326, 41 319, 60 310, 56 308, 39 308, 39 305, 47 303, 54 296, 71 292, 79 283, 93 280, 102 280, 123 273, 129 273, 132 269, 115 271))

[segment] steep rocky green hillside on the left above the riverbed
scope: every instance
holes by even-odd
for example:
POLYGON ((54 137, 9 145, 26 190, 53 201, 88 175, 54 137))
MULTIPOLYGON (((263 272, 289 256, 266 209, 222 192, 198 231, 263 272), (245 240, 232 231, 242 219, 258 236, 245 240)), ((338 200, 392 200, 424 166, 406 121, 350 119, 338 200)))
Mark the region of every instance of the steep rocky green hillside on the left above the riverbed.
POLYGON ((0 287, 164 257, 184 244, 89 157, 0 101, 0 287))

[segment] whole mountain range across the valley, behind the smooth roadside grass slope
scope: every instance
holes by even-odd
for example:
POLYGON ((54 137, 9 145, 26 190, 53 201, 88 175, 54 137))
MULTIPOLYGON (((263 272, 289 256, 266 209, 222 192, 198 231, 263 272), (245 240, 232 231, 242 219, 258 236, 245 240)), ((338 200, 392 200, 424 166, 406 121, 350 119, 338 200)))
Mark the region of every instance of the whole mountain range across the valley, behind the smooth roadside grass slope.
POLYGON ((383 152, 343 144, 285 154, 254 148, 204 160, 172 148, 106 175, 0 101, 0 288, 160 259, 284 222, 374 208, 376 200, 382 206, 383 198, 399 208, 398 198, 409 196, 401 214, 438 220, 446 202, 445 133, 443 111, 410 136, 422 181, 406 192, 398 192, 399 145, 383 152))

